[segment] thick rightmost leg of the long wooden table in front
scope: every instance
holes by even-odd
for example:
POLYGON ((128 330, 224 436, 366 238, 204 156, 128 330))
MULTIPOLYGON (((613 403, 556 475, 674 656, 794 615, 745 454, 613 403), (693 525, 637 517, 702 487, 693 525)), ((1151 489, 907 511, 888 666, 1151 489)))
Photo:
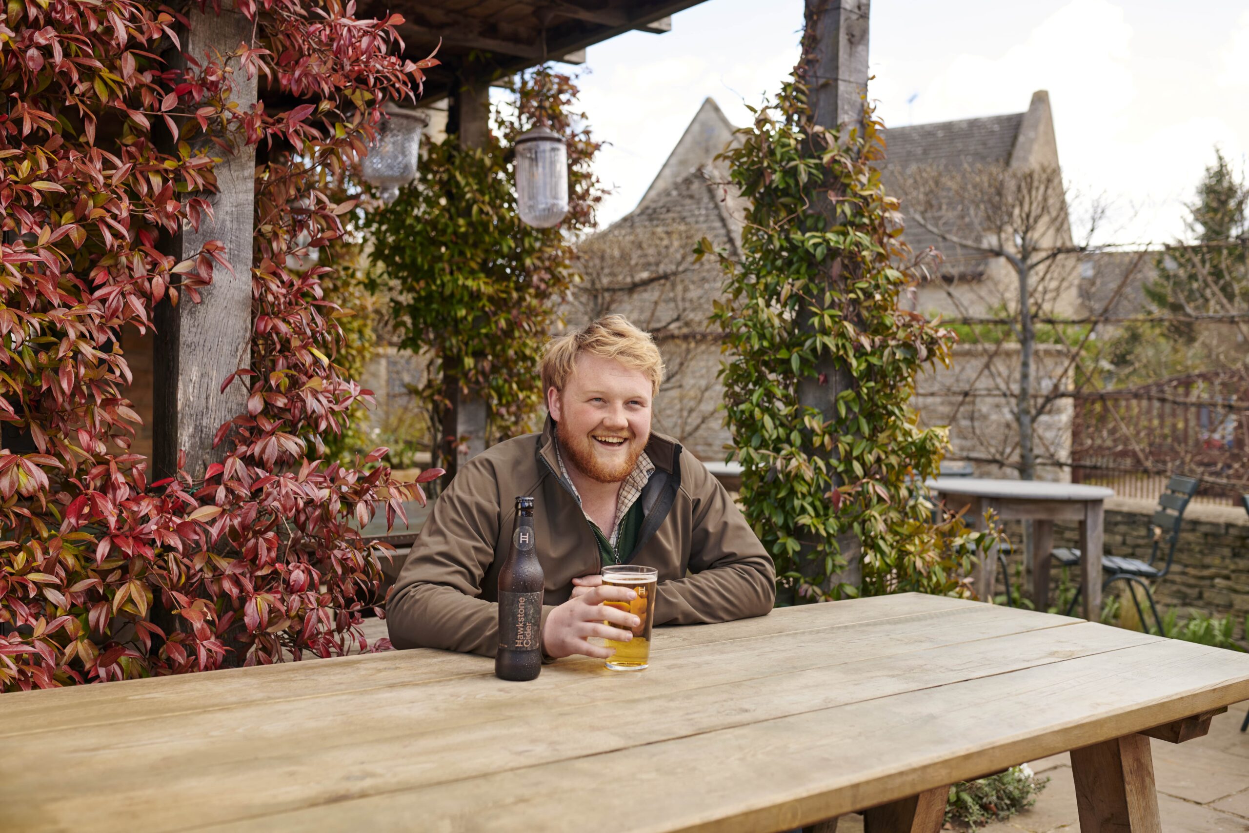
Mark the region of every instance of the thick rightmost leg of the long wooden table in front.
POLYGON ((1080 833, 1162 833, 1145 736, 1072 749, 1072 774, 1080 833))

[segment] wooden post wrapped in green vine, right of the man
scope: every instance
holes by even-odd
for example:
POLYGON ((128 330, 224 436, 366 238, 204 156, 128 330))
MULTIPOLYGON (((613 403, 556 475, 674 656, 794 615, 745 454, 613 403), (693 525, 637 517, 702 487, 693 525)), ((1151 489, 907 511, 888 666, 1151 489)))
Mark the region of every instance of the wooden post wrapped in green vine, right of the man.
MULTIPOLYGON (((814 124, 828 130, 863 130, 863 95, 867 92, 868 14, 871 0, 807 0, 806 20, 814 27, 807 57, 811 80, 809 105, 814 124)), ((812 35, 808 31, 808 35, 812 35)), ((831 200, 817 200, 814 211, 828 217, 829 227, 838 221, 831 200)), ((826 266, 826 280, 844 287, 844 277, 826 266)), ((837 396, 854 385, 839 362, 824 357, 817 363, 818 378, 798 383, 798 401, 816 408, 826 421, 837 416, 837 396)), ((827 453, 822 448, 813 453, 827 453)), ((847 583, 859 587, 863 579, 862 543, 853 533, 838 538, 846 569, 829 577, 828 586, 847 583)))

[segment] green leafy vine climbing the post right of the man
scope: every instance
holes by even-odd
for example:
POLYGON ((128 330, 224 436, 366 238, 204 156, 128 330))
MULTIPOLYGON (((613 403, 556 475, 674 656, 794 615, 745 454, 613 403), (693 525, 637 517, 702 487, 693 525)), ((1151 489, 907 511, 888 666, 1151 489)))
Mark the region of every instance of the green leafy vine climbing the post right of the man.
MULTIPOLYGON (((921 428, 908 405, 917 373, 948 363, 953 335, 898 306, 914 276, 876 165, 881 122, 868 107, 862 132, 838 135, 811 122, 806 100, 796 77, 724 154, 752 204, 741 261, 717 252, 727 300, 712 316, 732 355, 721 377, 742 505, 776 559, 782 603, 960 592, 978 533, 929 523, 918 483, 937 473, 947 432, 921 428), (829 199, 831 227, 811 210, 829 199), (798 385, 827 383, 817 365, 829 356, 854 385, 824 420, 799 405, 798 385), (863 547, 862 587, 831 586, 849 532, 863 547)), ((697 255, 711 252, 703 240, 697 255)))

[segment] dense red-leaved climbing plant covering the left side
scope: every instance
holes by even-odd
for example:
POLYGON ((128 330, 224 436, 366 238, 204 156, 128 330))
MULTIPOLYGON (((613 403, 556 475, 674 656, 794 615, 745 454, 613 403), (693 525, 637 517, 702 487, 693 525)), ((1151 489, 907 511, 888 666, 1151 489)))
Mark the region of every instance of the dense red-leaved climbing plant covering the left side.
POLYGON ((154 2, 11 0, 0 24, 0 692, 365 648, 378 571, 356 528, 425 500, 385 448, 320 460, 368 392, 335 365, 310 250, 352 209, 320 190, 327 174, 436 61, 397 57, 402 20, 353 4, 237 12, 250 41, 207 61, 174 60, 204 17, 154 2), (231 105, 257 75, 294 104, 231 105), (255 330, 250 366, 221 382, 249 387, 246 412, 202 481, 152 482, 130 452, 122 332, 212 292, 231 252, 210 241, 179 261, 162 244, 206 221, 215 159, 244 144, 261 159, 255 330))

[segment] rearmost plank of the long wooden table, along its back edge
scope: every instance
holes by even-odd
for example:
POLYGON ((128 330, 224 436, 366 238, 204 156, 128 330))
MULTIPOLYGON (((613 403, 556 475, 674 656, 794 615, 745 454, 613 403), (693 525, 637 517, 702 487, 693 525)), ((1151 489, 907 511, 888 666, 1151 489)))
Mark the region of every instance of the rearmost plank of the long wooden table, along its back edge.
MULTIPOLYGON (((879 596, 837 604, 804 604, 781 608, 757 619, 663 628, 662 636, 656 639, 654 651, 970 607, 979 604, 921 593, 879 596)), ((14 692, 4 696, 5 719, 0 726, 0 741, 32 731, 81 729, 114 722, 149 721, 164 714, 192 716, 205 709, 244 703, 276 704, 490 673, 491 668, 482 666, 480 657, 422 649, 230 668, 209 674, 129 679, 102 686, 14 692)))

